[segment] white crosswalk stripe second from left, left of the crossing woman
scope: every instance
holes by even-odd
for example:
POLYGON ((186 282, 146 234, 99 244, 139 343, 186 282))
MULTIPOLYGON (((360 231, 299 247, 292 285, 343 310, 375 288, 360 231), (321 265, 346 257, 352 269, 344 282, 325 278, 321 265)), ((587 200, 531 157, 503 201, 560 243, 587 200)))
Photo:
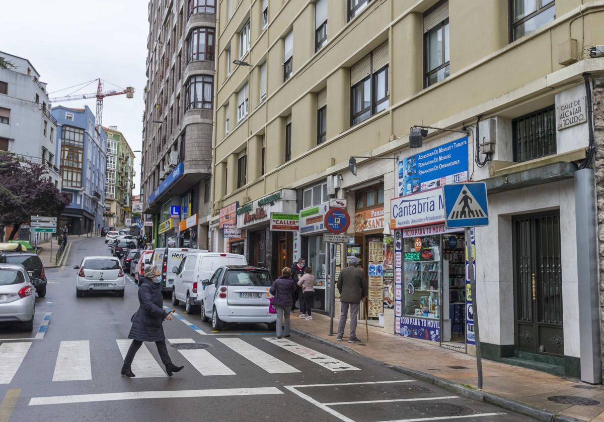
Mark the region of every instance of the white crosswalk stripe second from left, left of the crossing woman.
POLYGON ((62 341, 54 365, 53 381, 91 380, 88 340, 62 341))

